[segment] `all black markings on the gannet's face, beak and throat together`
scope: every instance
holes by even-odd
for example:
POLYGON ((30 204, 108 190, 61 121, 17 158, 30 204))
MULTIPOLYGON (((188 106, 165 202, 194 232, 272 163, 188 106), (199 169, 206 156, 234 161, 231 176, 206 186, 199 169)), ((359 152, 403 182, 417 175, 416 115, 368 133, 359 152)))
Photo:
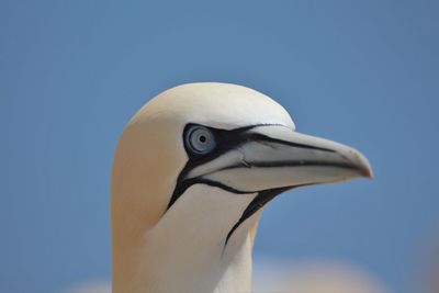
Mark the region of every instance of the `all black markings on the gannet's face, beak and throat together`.
MULTIPOLYGON (((250 204, 244 211, 240 218, 236 222, 236 224, 232 227, 232 229, 227 234, 227 237, 224 243, 224 247, 225 247, 227 245, 230 236, 239 227, 240 224, 243 224, 247 218, 249 218, 257 211, 259 211, 262 206, 264 206, 274 196, 277 196, 278 194, 280 194, 289 189, 295 188, 295 187, 284 187, 284 188, 277 188, 277 189, 261 190, 261 191, 260 190, 240 191, 240 190, 234 189, 232 187, 228 187, 226 184, 223 184, 221 182, 205 179, 202 176, 187 179, 187 174, 192 169, 196 168, 200 165, 203 165, 211 160, 214 160, 214 159, 218 158, 219 156, 224 155, 225 153, 227 153, 234 148, 237 148, 240 145, 243 145, 245 143, 249 143, 249 142, 274 143, 274 144, 289 145, 289 146, 294 146, 294 147, 300 147, 300 148, 317 149, 317 150, 334 153, 334 150, 328 149, 328 148, 320 148, 320 147, 315 147, 315 146, 296 144, 296 143, 292 143, 292 142, 284 142, 281 139, 266 136, 260 133, 249 132, 249 129, 258 127, 258 126, 274 126, 274 125, 280 125, 280 124, 257 124, 257 125, 250 125, 250 126, 239 127, 239 128, 235 128, 235 129, 221 129, 221 128, 209 127, 209 126, 199 125, 199 124, 194 124, 194 123, 187 124, 184 126, 182 142, 184 142, 184 149, 189 156, 189 160, 185 164, 185 166, 183 167, 183 169, 181 170, 180 174, 178 176, 177 184, 173 190, 172 196, 169 201, 167 211, 193 184, 207 184, 211 187, 221 188, 225 191, 233 192, 236 194, 257 193, 256 198, 250 202, 250 204), (207 128, 214 135, 216 145, 210 153, 198 154, 198 153, 192 151, 190 146, 188 146, 187 135, 188 135, 188 132, 194 126, 201 126, 201 127, 207 128)), ((306 162, 306 165, 323 165, 323 162, 309 161, 309 162, 306 162)), ((282 167, 282 166, 303 166, 303 162, 291 160, 291 161, 284 161, 284 162, 259 162, 259 164, 247 165, 246 161, 241 161, 239 165, 229 166, 225 169, 233 169, 233 168, 239 168, 239 167, 251 168, 251 167, 282 167)), ((345 166, 345 165, 340 165, 338 167, 349 168, 349 166, 345 166)))

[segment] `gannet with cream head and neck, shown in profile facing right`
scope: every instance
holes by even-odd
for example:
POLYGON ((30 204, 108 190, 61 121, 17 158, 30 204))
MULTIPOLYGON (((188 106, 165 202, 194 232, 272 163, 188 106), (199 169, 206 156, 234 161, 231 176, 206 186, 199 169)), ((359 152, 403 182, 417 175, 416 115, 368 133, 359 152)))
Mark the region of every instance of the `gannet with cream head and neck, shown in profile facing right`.
POLYGON ((289 113, 256 90, 169 89, 134 115, 115 151, 113 293, 250 292, 269 201, 371 176, 358 150, 296 132, 289 113))

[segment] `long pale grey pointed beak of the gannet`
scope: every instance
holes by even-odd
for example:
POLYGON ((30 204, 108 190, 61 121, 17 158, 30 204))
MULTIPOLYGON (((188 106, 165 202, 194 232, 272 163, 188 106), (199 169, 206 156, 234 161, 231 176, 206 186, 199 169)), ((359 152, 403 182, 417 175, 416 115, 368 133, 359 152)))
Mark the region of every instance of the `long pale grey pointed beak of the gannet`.
POLYGON ((241 192, 372 178, 358 150, 280 125, 251 128, 248 138, 192 169, 187 178, 217 182, 241 192))

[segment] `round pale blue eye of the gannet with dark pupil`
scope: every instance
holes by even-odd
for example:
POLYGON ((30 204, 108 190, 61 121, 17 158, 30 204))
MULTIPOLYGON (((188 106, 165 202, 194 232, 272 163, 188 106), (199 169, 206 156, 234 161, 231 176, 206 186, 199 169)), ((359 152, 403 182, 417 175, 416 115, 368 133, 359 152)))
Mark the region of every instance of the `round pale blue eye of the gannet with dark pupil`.
POLYGON ((215 146, 213 133, 203 126, 192 126, 185 135, 185 145, 194 154, 203 155, 212 151, 215 146))

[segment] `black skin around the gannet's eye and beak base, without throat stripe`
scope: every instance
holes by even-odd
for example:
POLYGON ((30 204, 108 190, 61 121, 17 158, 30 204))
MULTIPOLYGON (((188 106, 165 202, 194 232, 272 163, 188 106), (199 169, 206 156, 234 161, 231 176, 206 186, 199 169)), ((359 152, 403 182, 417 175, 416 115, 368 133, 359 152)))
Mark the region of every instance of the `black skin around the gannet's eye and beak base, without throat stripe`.
MULTIPOLYGON (((185 142, 184 137, 187 135, 188 129, 190 129, 194 125, 198 125, 198 124, 190 123, 184 126, 182 142, 185 142)), ((199 155, 199 154, 191 153, 191 150, 188 149, 188 146, 184 145, 184 149, 189 156, 189 160, 185 164, 185 166, 183 167, 183 169, 181 170, 181 172, 177 179, 177 184, 173 190, 172 196, 168 203, 167 211, 184 193, 184 191, 189 187, 191 187, 192 184, 195 184, 195 183, 205 183, 205 184, 215 185, 215 187, 218 187, 224 190, 235 192, 238 194, 252 193, 252 192, 237 191, 230 187, 224 185, 224 184, 215 182, 215 181, 209 181, 209 180, 205 180, 202 178, 185 179, 185 177, 192 169, 196 168, 198 166, 203 165, 207 161, 214 160, 217 157, 227 153, 228 150, 236 148, 240 144, 244 144, 244 143, 252 139, 254 134, 248 133, 249 129, 258 127, 258 126, 269 126, 269 125, 279 125, 279 124, 256 124, 256 125, 245 126, 245 127, 229 129, 229 131, 204 126, 204 127, 209 128, 215 135, 216 147, 213 151, 211 151, 209 154, 199 155)))

